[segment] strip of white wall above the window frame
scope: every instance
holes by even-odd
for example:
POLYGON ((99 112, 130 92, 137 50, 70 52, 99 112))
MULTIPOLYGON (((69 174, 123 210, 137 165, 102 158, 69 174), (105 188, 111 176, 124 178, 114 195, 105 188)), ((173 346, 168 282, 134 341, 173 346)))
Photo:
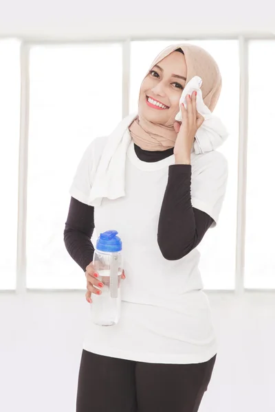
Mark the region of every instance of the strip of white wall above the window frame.
POLYGON ((275 31, 274 11, 272 0, 0 0, 0 36, 269 32, 275 31))

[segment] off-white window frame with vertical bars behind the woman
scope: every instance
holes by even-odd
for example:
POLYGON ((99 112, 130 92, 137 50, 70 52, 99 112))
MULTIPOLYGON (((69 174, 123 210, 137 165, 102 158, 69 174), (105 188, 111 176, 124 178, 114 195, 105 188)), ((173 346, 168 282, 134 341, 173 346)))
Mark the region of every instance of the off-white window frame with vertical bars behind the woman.
MULTIPOLYGON (((8 39, 9 37, 6 36, 8 39)), ((36 38, 19 38, 21 41, 20 65, 21 65, 21 117, 20 117, 20 143, 19 143, 19 211, 17 229, 17 279, 15 290, 0 290, 0 293, 11 292, 17 294, 24 293, 49 293, 54 290, 59 293, 74 290, 69 289, 27 289, 26 288, 26 218, 27 218, 27 186, 28 186, 28 131, 29 131, 29 109, 30 109, 30 49, 34 45, 83 45, 83 43, 120 43, 122 45, 122 115, 129 113, 129 89, 130 89, 130 61, 132 41, 186 41, 192 40, 237 40, 239 41, 239 77, 240 77, 240 98, 239 98, 239 155, 238 155, 238 185, 237 185, 237 207, 236 207, 236 270, 234 290, 210 290, 204 289, 207 293, 230 293, 243 295, 244 293, 259 292, 271 293, 273 289, 249 289, 244 288, 244 260, 245 260, 245 203, 246 203, 246 180, 247 180, 247 155, 248 155, 248 48, 253 40, 275 40, 275 34, 270 35, 234 34, 221 36, 221 34, 204 36, 171 36, 155 38, 102 38, 90 39, 89 41, 46 41, 36 38)), ((1 37, 3 39, 3 36, 1 37)), ((77 291, 79 292, 79 290, 77 291)))

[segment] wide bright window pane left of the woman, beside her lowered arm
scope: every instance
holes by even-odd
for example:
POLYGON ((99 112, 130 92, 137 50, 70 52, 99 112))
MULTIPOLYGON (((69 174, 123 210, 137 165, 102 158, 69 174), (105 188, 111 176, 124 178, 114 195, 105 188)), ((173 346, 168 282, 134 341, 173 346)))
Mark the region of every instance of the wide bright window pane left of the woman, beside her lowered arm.
POLYGON ((32 47, 28 288, 85 288, 83 270, 63 241, 69 187, 88 144, 121 117, 120 44, 32 47))

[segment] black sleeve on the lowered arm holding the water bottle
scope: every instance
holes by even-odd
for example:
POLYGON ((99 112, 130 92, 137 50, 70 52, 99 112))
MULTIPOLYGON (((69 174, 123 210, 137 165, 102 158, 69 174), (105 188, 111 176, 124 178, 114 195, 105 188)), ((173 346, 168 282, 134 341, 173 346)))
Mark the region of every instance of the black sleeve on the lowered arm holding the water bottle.
POLYGON ((83 271, 94 257, 91 236, 94 232, 94 206, 85 205, 71 198, 69 213, 65 222, 65 247, 83 271))

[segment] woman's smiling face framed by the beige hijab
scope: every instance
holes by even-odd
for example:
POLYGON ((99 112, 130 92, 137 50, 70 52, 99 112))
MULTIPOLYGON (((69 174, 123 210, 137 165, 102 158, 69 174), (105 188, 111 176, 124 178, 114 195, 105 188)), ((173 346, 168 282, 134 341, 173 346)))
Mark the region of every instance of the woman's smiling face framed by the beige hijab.
POLYGON ((179 111, 179 98, 186 84, 187 67, 184 54, 172 52, 157 63, 140 87, 139 115, 149 122, 171 123, 179 111))

